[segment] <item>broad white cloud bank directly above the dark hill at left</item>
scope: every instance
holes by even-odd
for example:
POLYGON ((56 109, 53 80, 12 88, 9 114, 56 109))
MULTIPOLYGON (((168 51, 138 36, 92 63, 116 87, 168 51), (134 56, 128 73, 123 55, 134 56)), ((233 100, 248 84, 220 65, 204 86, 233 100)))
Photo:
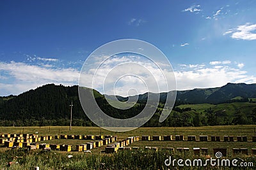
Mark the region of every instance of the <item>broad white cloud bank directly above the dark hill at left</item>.
MULTIPOLYGON (((2 81, 2 95, 20 94, 47 83, 63 85, 77 84, 79 71, 72 68, 52 68, 50 65, 37 66, 23 62, 0 62, 0 74, 8 74, 8 80, 2 81), (5 83, 4 83, 5 82, 5 83), (4 93, 4 94, 3 94, 4 93)), ((1 78, 3 80, 3 78, 1 78)))

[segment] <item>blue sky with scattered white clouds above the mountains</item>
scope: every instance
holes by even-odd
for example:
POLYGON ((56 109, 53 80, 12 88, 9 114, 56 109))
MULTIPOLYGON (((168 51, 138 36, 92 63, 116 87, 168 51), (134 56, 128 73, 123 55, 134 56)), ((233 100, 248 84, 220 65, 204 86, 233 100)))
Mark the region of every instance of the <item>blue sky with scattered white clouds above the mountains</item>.
POLYGON ((0 1, 0 96, 77 85, 88 56, 118 39, 159 48, 177 90, 256 83, 255 9, 246 0, 0 1))

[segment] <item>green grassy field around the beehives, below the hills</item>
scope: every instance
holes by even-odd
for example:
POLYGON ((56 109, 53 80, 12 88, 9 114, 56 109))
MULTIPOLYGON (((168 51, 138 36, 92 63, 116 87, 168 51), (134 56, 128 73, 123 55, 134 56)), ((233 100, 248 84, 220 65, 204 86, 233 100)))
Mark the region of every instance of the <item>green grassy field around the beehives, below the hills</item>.
MULTIPOLYGON (((102 153, 106 146, 94 148, 92 153, 83 152, 42 152, 19 149, 11 150, 0 145, 0 168, 1 169, 33 169, 35 166, 40 166, 40 169, 167 169, 164 166, 164 160, 168 155, 173 157, 195 157, 193 152, 187 155, 180 155, 180 153, 169 153, 161 148, 178 148, 186 147, 193 150, 194 147, 209 148, 209 154, 213 155, 212 148, 227 148, 227 157, 234 158, 232 155, 232 148, 248 148, 248 155, 239 155, 244 160, 255 162, 255 157, 251 155, 251 148, 256 148, 256 143, 253 143, 252 136, 255 135, 255 125, 234 125, 234 126, 214 126, 214 127, 140 127, 134 131, 129 132, 110 132, 100 127, 0 127, 0 134, 35 134, 38 132, 40 136, 58 135, 58 134, 82 134, 82 135, 116 135, 118 139, 125 139, 129 136, 155 136, 159 135, 184 135, 187 139, 188 135, 195 135, 199 139, 200 135, 208 136, 248 136, 248 142, 200 142, 200 141, 136 141, 132 143, 131 147, 138 146, 140 150, 132 152, 118 152, 115 154, 102 153), (158 147, 159 152, 152 152, 144 150, 145 146, 158 147), (67 155, 73 155, 72 159, 67 159, 67 155), (145 157, 147 159, 145 160, 145 157), (11 167, 6 166, 6 162, 17 162, 11 167), (141 163, 141 161, 143 163, 141 163), (148 161, 148 162, 147 162, 148 161)), ((236 139, 236 138, 235 138, 236 139)), ((52 139, 51 141, 40 141, 40 143, 49 144, 65 144, 76 146, 81 143, 88 142, 79 139, 52 139)), ((75 148, 73 147, 73 150, 75 148)), ((204 155, 200 155, 205 159, 204 155)), ((200 167, 198 167, 200 169, 200 167)), ((179 168, 178 168, 179 169, 179 168)), ((191 169, 190 167, 188 169, 191 169)), ((216 167, 207 167, 207 169, 216 169, 216 167)))

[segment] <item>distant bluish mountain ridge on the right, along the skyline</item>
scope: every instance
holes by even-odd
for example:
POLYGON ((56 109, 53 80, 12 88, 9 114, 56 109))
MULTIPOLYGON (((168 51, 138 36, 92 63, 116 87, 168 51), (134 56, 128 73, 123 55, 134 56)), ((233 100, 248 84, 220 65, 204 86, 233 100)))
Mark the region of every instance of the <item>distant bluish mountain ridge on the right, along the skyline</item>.
MULTIPOLYGON (((148 94, 154 96, 157 94, 147 92, 138 96, 131 96, 138 101, 147 101, 148 94)), ((160 102, 166 100, 167 92, 160 94, 160 102)), ((108 96, 109 99, 115 99, 115 96, 108 96)), ((232 101, 235 97, 241 97, 243 99, 256 98, 256 84, 246 83, 227 83, 222 87, 207 88, 207 89, 193 89, 193 90, 177 90, 177 102, 200 104, 200 103, 227 103, 232 101)), ((116 96, 120 101, 127 101, 128 97, 116 96)))

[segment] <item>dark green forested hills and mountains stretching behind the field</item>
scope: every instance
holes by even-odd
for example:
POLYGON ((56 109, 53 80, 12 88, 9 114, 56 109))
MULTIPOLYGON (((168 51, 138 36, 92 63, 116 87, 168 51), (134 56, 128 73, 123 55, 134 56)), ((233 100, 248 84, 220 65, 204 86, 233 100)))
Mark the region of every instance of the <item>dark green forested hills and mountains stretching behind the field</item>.
MULTIPOLYGON (((91 126, 93 125, 93 123, 86 117, 86 114, 81 107, 77 88, 77 85, 72 87, 65 87, 63 85, 49 84, 38 87, 35 90, 29 90, 28 92, 24 92, 19 96, 0 97, 0 126, 69 125, 71 101, 73 101, 74 105, 72 124, 91 126)), ((134 107, 130 108, 129 110, 118 110, 108 104, 105 96, 103 96, 96 90, 94 90, 94 92, 95 94, 97 94, 96 101, 99 104, 100 108, 109 116, 115 118, 131 118, 140 113, 140 111, 144 108, 143 103, 147 101, 148 95, 147 93, 141 94, 139 96, 139 103, 135 104, 134 107)), ((154 96, 154 94, 152 93, 150 93, 149 95, 154 96)), ((214 117, 214 115, 221 115, 221 117, 224 115, 225 118, 222 119, 223 124, 233 124, 233 119, 236 115, 237 110, 240 112, 242 111, 243 113, 239 114, 244 115, 244 117, 246 117, 246 115, 251 115, 252 113, 254 114, 254 112, 256 111, 254 105, 256 101, 256 85, 248 85, 245 83, 228 83, 223 87, 211 89, 177 91, 177 103, 175 106, 178 106, 179 104, 196 103, 211 103, 215 105, 209 106, 205 104, 204 107, 200 110, 193 108, 191 105, 184 105, 185 108, 175 107, 170 117, 168 117, 166 121, 163 122, 163 124, 159 124, 158 120, 166 95, 167 93, 160 94, 161 103, 159 104, 159 108, 157 108, 155 115, 150 121, 148 121, 146 126, 174 125, 179 121, 174 120, 173 117, 181 118, 180 125, 199 125, 199 123, 193 123, 193 118, 195 117, 197 117, 195 120, 200 120, 198 119, 198 117, 202 117, 202 125, 215 125, 218 124, 218 121, 216 121, 216 119, 212 119, 215 120, 215 123, 207 122, 208 117, 214 117), (227 113, 225 114, 220 114, 218 113, 218 111, 220 112, 220 107, 216 105, 220 103, 252 104, 225 105, 225 107, 231 106, 230 110, 227 110, 227 113), (213 108, 216 108, 216 110, 212 110, 213 108), (182 118, 184 118, 184 120, 182 118)), ((127 98, 119 96, 118 99, 120 99, 121 101, 125 101, 127 98)), ((223 107, 221 109, 225 110, 225 108, 223 107)), ((237 120, 240 119, 237 118, 237 120)), ((244 122, 244 124, 248 124, 253 121, 248 120, 247 122, 244 122)))

